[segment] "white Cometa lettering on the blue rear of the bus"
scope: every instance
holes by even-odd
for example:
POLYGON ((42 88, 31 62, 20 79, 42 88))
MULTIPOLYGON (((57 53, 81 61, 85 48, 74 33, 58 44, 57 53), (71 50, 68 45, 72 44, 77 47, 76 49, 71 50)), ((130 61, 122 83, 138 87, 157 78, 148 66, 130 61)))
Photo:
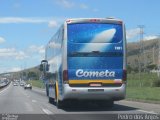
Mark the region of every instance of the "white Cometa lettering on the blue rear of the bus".
POLYGON ((78 69, 76 71, 77 77, 115 77, 115 71, 84 71, 83 69, 78 69))

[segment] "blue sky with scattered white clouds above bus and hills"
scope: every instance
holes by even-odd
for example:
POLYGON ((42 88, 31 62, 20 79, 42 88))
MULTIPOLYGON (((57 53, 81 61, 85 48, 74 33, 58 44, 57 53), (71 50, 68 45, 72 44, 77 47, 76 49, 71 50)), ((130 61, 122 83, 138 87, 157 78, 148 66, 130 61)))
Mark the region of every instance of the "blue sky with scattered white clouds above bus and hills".
POLYGON ((34 67, 45 45, 68 18, 120 18, 127 42, 160 35, 159 0, 0 0, 0 73, 34 67))

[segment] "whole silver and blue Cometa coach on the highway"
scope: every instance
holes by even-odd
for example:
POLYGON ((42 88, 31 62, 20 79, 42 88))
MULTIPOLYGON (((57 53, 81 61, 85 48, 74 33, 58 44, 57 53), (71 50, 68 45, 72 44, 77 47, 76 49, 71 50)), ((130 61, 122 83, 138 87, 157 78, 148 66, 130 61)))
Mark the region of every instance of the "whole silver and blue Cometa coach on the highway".
POLYGON ((41 62, 49 102, 96 101, 112 107, 126 94, 126 31, 115 18, 67 19, 41 62))

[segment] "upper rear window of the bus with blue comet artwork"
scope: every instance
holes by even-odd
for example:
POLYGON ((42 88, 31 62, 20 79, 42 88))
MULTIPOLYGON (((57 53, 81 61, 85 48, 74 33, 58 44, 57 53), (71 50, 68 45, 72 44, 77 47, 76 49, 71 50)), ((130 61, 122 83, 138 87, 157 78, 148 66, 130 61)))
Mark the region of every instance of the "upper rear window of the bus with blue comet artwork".
POLYGON ((75 23, 67 26, 68 42, 118 43, 123 39, 122 25, 106 23, 75 23))

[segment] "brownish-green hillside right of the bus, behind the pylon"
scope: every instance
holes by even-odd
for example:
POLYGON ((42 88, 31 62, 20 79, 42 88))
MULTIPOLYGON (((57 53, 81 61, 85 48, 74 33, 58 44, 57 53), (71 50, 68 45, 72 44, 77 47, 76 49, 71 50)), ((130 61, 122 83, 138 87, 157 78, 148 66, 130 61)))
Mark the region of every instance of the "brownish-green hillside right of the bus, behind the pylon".
POLYGON ((138 71, 138 65, 141 69, 146 69, 150 65, 158 65, 158 39, 134 42, 127 44, 127 64, 134 71, 138 71), (143 48, 143 52, 142 49, 143 48), (140 52, 141 51, 141 52, 140 52), (140 61, 140 62, 139 62, 140 61))

